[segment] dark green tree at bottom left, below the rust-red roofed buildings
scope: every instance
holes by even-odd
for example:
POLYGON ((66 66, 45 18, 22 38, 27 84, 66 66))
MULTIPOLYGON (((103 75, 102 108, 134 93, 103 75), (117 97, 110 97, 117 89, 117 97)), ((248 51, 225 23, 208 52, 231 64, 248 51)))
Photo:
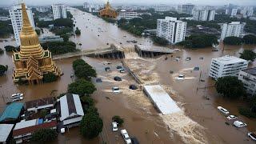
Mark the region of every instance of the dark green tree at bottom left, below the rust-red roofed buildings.
POLYGON ((56 133, 56 130, 40 129, 35 131, 35 133, 32 135, 31 140, 37 143, 47 143, 54 141, 57 136, 58 134, 56 133))

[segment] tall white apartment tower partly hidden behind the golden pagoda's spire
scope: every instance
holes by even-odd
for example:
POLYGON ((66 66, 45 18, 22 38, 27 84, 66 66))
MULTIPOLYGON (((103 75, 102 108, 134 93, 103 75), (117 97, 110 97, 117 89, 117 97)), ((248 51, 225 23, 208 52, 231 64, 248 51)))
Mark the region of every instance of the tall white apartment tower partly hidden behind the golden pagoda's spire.
MULTIPOLYGON (((28 8, 26 6, 26 13, 29 17, 31 26, 35 28, 34 18, 33 18, 33 13, 31 8, 28 8)), ((22 30, 22 5, 19 4, 19 5, 12 6, 11 9, 9 10, 9 14, 10 14, 11 24, 14 29, 14 38, 17 46, 19 46, 20 45, 19 33, 22 30)))

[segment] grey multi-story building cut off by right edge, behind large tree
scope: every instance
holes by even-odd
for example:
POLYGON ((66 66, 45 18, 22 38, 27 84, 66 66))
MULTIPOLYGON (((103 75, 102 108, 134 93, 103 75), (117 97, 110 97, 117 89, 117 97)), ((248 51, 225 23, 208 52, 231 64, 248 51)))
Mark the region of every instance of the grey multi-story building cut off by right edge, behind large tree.
POLYGON ((248 94, 256 94, 256 67, 240 70, 238 79, 242 81, 243 86, 248 94))

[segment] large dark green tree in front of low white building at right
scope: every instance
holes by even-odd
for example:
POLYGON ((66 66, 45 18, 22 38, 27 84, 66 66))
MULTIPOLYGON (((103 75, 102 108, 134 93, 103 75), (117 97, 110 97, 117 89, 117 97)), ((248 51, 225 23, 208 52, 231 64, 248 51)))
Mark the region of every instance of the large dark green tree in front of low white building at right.
POLYGON ((242 81, 234 76, 218 78, 215 88, 219 94, 223 94, 226 98, 239 98, 246 94, 242 81))

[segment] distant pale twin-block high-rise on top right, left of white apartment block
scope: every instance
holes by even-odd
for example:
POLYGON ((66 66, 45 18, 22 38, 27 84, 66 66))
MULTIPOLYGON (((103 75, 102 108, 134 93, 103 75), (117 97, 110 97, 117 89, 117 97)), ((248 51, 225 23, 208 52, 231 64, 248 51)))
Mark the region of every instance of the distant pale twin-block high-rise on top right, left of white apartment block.
POLYGON ((196 21, 213 21, 215 16, 215 10, 208 9, 194 9, 193 18, 196 21))

